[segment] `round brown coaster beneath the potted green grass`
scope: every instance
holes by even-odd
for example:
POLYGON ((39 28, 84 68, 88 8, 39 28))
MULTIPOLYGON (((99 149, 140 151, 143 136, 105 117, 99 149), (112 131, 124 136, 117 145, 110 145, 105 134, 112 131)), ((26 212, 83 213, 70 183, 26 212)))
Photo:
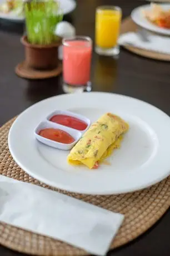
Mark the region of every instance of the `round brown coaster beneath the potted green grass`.
POLYGON ((21 62, 16 66, 16 74, 22 78, 27 79, 44 79, 58 76, 62 72, 62 65, 60 64, 53 70, 34 70, 27 66, 26 62, 21 62))

